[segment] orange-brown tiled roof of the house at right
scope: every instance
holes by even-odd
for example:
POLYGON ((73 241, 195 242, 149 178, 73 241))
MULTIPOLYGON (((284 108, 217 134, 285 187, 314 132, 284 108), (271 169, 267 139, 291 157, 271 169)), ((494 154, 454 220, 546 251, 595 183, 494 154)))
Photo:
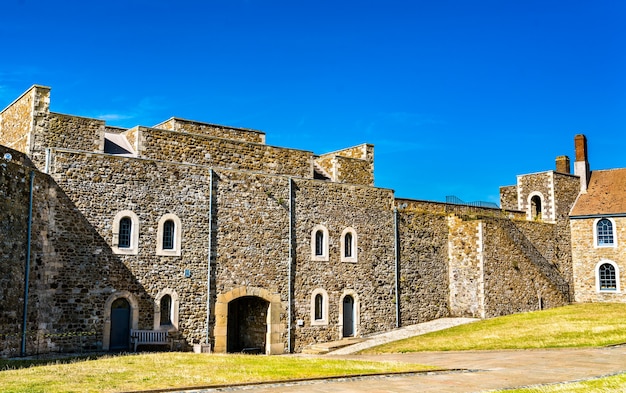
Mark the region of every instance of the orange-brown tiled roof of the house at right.
POLYGON ((591 172, 570 216, 626 213, 626 168, 591 172))

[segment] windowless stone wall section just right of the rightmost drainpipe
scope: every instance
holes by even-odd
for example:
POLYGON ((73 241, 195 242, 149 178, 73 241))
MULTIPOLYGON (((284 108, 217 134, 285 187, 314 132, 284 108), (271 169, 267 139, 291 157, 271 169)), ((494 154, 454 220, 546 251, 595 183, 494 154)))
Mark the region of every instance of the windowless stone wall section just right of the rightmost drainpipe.
POLYGON ((450 316, 448 223, 442 213, 398 213, 401 325, 450 316))

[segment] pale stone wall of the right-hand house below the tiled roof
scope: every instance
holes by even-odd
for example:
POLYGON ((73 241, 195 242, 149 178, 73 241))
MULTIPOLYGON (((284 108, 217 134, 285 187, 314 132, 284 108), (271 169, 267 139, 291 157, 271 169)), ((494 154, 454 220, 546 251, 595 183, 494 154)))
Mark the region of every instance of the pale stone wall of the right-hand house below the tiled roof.
POLYGON ((597 247, 594 225, 598 217, 575 218, 570 221, 572 231, 573 282, 577 302, 626 302, 626 218, 614 220, 615 247, 597 247), (599 263, 613 262, 617 269, 620 291, 599 291, 596 271, 599 263))

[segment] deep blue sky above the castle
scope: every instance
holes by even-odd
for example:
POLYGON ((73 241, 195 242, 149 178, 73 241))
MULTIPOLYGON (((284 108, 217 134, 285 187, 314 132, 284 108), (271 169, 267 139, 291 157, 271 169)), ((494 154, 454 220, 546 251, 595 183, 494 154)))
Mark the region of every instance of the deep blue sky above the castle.
POLYGON ((375 146, 399 197, 498 202, 517 174, 626 166, 626 2, 35 1, 0 12, 0 107, 176 116, 317 154, 375 146))

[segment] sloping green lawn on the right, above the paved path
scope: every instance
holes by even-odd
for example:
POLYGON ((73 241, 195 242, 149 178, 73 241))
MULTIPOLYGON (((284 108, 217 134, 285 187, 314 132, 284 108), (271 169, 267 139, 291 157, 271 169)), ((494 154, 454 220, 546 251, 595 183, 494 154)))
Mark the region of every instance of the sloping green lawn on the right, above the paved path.
POLYGON ((487 319, 361 353, 574 348, 622 343, 626 343, 626 304, 594 303, 487 319))

